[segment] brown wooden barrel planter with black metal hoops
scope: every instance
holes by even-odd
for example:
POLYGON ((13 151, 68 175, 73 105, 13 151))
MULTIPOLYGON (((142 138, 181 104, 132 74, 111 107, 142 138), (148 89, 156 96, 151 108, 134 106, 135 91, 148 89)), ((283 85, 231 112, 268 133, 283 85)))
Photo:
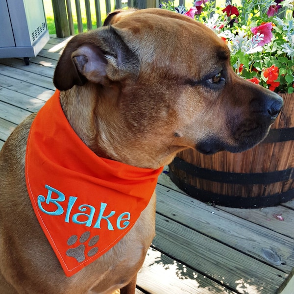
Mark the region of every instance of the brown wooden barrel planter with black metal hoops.
POLYGON ((172 181, 203 202, 239 208, 275 206, 294 198, 294 94, 267 138, 241 153, 180 152, 170 164, 172 181))

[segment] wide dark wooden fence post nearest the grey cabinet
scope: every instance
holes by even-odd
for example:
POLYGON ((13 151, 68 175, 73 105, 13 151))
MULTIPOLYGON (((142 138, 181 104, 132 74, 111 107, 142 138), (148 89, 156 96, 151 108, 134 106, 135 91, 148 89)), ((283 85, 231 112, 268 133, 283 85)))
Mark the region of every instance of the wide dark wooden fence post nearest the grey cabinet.
POLYGON ((64 0, 52 0, 54 23, 57 37, 64 38, 70 35, 64 0))

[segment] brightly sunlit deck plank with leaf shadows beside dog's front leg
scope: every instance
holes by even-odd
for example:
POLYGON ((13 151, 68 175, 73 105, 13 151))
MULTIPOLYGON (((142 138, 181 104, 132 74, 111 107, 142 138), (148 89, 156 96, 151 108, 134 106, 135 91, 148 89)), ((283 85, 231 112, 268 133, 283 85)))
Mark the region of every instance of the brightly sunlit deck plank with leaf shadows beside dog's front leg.
POLYGON ((195 270, 149 248, 137 285, 149 294, 235 294, 195 270))

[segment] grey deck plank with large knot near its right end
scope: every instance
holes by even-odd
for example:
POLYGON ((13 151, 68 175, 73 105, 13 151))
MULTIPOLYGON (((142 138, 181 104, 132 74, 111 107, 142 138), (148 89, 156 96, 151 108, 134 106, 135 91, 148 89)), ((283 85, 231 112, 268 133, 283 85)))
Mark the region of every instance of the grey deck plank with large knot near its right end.
POLYGON ((157 185, 156 211, 279 270, 294 268, 294 240, 157 185))

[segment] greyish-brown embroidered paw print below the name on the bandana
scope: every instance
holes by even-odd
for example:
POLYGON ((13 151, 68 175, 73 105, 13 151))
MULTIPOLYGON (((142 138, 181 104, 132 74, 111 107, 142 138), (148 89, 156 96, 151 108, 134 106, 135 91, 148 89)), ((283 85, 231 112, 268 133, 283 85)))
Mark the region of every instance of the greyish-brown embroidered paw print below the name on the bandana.
MULTIPOLYGON (((66 255, 70 256, 70 257, 74 257, 76 259, 77 262, 82 262, 86 259, 86 246, 85 243, 89 240, 90 238, 90 232, 87 231, 85 233, 83 233, 80 238, 79 238, 79 245, 78 245, 78 237, 76 235, 71 236, 68 241, 67 241, 67 245, 72 246, 77 244, 77 246, 73 247, 73 248, 69 248, 66 251, 66 255)), ((95 255, 98 252, 98 247, 94 245, 97 244, 99 240, 99 236, 94 236, 92 237, 89 242, 88 242, 88 246, 92 247, 88 252, 87 252, 87 256, 91 257, 93 255, 95 255)))

